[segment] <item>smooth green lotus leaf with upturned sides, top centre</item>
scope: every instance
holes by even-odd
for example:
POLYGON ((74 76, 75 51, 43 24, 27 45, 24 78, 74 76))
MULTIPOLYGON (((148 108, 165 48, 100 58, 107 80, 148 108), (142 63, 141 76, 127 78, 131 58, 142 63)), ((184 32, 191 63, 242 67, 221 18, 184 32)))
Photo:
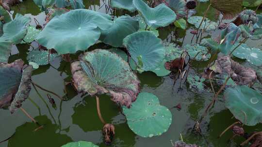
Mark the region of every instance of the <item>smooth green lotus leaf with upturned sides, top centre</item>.
POLYGON ((143 0, 133 0, 136 9, 143 15, 149 27, 165 27, 176 20, 177 15, 164 3, 150 8, 143 0))

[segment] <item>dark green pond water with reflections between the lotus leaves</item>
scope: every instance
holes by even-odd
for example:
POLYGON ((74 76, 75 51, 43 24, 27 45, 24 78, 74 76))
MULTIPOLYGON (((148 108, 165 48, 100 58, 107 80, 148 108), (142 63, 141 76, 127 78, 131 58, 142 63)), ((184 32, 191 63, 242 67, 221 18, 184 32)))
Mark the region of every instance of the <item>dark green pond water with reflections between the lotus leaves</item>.
MULTIPOLYGON (((103 0, 84 0, 86 8, 105 12, 106 8, 103 0)), ((197 15, 203 15, 209 3, 200 3, 197 6, 197 15)), ((20 13, 28 15, 32 18, 31 25, 35 26, 33 18, 36 18, 41 25, 45 23, 45 14, 34 4, 33 0, 24 0, 23 3, 12 8, 11 13, 15 15, 20 13)), ((117 15, 123 12, 117 11, 117 15)), ((134 14, 131 14, 134 15, 134 14)), ((208 18, 214 20, 215 10, 211 9, 208 18)), ((190 31, 193 26, 186 31, 186 37, 182 45, 191 42, 192 34, 190 31)), ((182 29, 174 26, 158 29, 159 38, 167 41, 175 41, 174 34, 178 34, 177 41, 182 42, 185 34, 182 29)), ((213 32, 212 36, 216 36, 218 32, 213 32)), ((256 42, 256 43, 259 43, 256 42)), ((253 47, 260 48, 260 44, 248 41, 253 47)), ((33 44, 36 45, 36 44, 33 44)), ((104 44, 92 46, 92 49, 105 48, 104 44)), ((26 56, 30 46, 28 44, 18 44, 13 46, 12 56, 9 62, 15 59, 23 59, 26 63, 26 56)), ((76 59, 76 55, 72 58, 76 59)), ((247 66, 247 62, 241 60, 247 66)), ((207 62, 194 62, 190 74, 201 73, 207 62)), ((232 118, 232 114, 225 108, 222 95, 219 101, 210 111, 209 115, 201 124, 203 135, 196 135, 191 132, 196 120, 200 118, 206 106, 213 98, 213 92, 210 87, 206 87, 208 92, 197 93, 189 88, 187 83, 182 81, 181 88, 179 80, 174 85, 172 76, 157 77, 155 73, 138 74, 141 81, 141 91, 151 92, 155 94, 160 103, 168 108, 172 108, 177 104, 181 104, 181 110, 176 108, 170 109, 172 113, 172 124, 167 132, 161 136, 143 138, 134 134, 128 127, 125 117, 121 114, 120 109, 106 95, 102 95, 100 99, 101 113, 105 121, 115 125, 115 138, 112 147, 171 147, 170 140, 174 142, 180 140, 180 134, 187 143, 198 144, 201 147, 237 147, 243 138, 236 138, 234 141, 228 142, 233 135, 227 132, 223 137, 218 139, 218 135, 224 131, 230 124, 236 121, 232 118)), ((47 99, 47 93, 33 87, 29 96, 29 100, 23 103, 23 108, 30 113, 40 124, 44 124, 44 128, 34 131, 37 128, 29 118, 27 118, 21 110, 10 114, 9 110, 0 109, 0 140, 13 137, 9 141, 0 144, 0 147, 60 147, 68 142, 86 140, 105 147, 103 143, 103 135, 95 97, 83 96, 77 94, 71 85, 65 86, 66 82, 71 80, 70 63, 59 58, 55 59, 51 65, 40 66, 39 69, 33 71, 33 82, 41 85, 63 96, 67 101, 61 102, 56 97, 56 107, 52 107, 47 99), (37 105, 37 106, 36 106, 37 105)), ((219 89, 215 85, 215 91, 219 89)), ((261 131, 262 125, 254 127, 245 127, 246 132, 261 131)))

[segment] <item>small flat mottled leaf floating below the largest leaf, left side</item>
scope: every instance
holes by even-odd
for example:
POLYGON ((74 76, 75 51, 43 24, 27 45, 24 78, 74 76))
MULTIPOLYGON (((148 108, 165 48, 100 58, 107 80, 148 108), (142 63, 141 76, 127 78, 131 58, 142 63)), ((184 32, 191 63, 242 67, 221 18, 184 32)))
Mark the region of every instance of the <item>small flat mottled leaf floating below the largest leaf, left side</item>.
POLYGON ((49 54, 49 51, 39 51, 39 49, 34 49, 29 52, 26 59, 28 62, 35 62, 38 65, 48 65, 56 57, 58 57, 57 54, 49 54))

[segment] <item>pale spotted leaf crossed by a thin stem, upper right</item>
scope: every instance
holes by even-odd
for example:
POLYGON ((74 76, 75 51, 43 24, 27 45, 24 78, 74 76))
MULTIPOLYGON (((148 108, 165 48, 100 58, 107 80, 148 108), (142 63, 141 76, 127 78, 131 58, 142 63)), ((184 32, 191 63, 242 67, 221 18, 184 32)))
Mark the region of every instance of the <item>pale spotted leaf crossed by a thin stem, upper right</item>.
MULTIPOLYGON (((191 16, 188 18, 188 23, 195 25, 196 28, 200 26, 200 23, 202 21, 202 16, 191 16)), ((212 31, 215 30, 218 27, 218 24, 216 22, 213 22, 209 20, 208 18, 205 18, 202 25, 199 29, 205 29, 206 31, 212 31)))

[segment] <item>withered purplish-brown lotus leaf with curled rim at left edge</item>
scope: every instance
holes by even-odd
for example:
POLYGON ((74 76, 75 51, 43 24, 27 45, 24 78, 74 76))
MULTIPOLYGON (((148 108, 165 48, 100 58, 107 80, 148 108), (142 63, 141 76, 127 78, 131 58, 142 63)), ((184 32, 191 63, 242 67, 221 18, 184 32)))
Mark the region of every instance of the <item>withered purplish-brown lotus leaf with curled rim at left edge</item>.
POLYGON ((13 63, 0 63, 0 108, 9 106, 13 113, 21 107, 30 93, 33 67, 24 65, 21 59, 13 63))

